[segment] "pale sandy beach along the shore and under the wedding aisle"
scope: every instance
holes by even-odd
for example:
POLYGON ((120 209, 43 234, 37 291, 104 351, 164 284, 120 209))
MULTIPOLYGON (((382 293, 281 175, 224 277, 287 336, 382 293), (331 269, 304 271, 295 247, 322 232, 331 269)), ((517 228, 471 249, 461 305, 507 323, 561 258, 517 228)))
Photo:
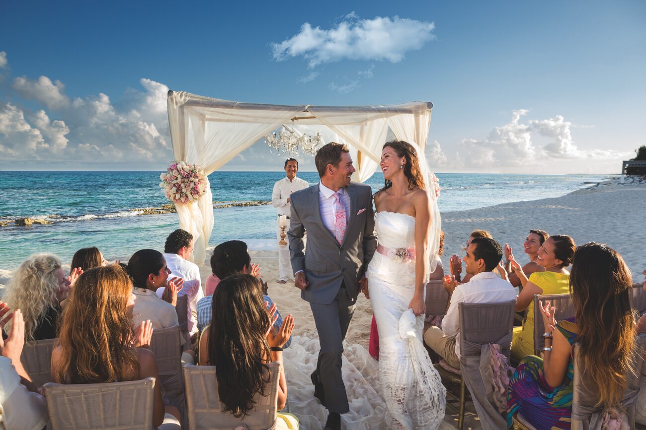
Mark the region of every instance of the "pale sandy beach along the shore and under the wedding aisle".
MULTIPOLYGON (((514 190, 510 189, 508 192, 513 193, 514 190)), ((476 210, 445 213, 442 219, 446 235, 444 267, 447 267, 448 258, 453 253, 463 255, 462 246, 474 228, 490 231, 494 239, 501 244, 509 243, 514 248, 514 254, 519 261, 525 262, 522 242, 528 230, 538 228, 550 234, 568 234, 577 244, 584 244, 591 240, 608 244, 619 251, 626 260, 632 270, 634 281, 641 282, 643 280, 641 271, 646 268, 645 211, 646 185, 622 186, 616 181, 608 181, 553 199, 520 201, 476 210)), ((101 246, 101 244, 96 245, 101 246)), ((260 264, 262 278, 269 282, 269 296, 276 302, 283 315, 291 313, 295 316, 294 335, 315 340, 316 331, 309 304, 301 300, 300 291, 295 288, 293 282, 282 285, 276 282, 278 280, 277 252, 255 250, 253 246, 250 248, 253 262, 260 264)), ((124 256, 123 260, 127 260, 125 257, 127 256, 124 256)), ((201 269, 203 280, 211 272, 209 257, 201 269)), ((0 270, 2 286, 8 282, 9 277, 9 271, 0 270)), ((370 322, 370 301, 360 296, 346 338, 348 346, 359 344, 368 348, 370 322)), ((352 351, 353 354, 356 352, 352 351)), ((288 354, 286 358, 289 358, 288 354)), ((368 363, 367 366, 374 365, 368 363)), ((306 396, 306 393, 297 392, 295 395, 306 396)), ((305 422, 302 424, 309 423, 309 425, 307 427, 304 425, 302 428, 317 427, 317 420, 323 418, 322 407, 320 409, 320 413, 313 413, 309 418, 305 417, 305 422)), ((295 412, 298 413, 298 411, 295 412)), ((453 417, 447 414, 445 428, 453 428, 452 423, 453 417)), ((367 422, 364 425, 370 427, 367 422)), ((473 417, 466 420, 464 428, 468 427, 479 427, 473 417)))

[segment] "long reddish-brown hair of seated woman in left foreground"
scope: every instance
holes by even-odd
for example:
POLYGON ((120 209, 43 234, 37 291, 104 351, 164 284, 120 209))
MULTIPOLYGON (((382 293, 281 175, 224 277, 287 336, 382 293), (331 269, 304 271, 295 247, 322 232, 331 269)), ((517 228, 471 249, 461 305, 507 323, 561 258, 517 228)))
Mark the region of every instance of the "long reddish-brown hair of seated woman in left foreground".
POLYGON ((118 382, 138 373, 139 362, 130 347, 130 294, 130 278, 116 264, 90 269, 76 280, 59 330, 61 381, 118 382))

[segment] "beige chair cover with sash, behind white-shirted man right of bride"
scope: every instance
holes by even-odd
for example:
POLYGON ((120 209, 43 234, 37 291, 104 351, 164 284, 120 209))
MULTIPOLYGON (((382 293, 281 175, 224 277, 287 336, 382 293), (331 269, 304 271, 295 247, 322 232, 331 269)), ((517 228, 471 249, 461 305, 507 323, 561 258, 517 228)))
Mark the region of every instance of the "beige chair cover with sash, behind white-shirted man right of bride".
MULTIPOLYGON (((460 369, 466 387, 471 393, 475 411, 483 429, 504 429, 506 420, 499 412, 495 397, 506 399, 506 387, 494 384, 492 344, 499 345, 505 356, 504 369, 509 378, 508 361, 511 354, 512 329, 516 314, 516 300, 501 303, 460 303, 460 369), (494 387, 499 393, 494 392, 494 387)), ((508 382, 507 382, 508 384, 508 382)), ((503 400, 504 403, 504 400, 503 400)), ((504 408, 503 408, 504 410, 504 408)))

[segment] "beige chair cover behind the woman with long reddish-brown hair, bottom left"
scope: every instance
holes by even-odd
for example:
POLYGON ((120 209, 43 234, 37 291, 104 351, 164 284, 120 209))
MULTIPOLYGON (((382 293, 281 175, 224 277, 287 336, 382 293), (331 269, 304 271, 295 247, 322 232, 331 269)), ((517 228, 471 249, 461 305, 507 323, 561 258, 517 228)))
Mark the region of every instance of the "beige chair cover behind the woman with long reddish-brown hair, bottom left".
POLYGON ((110 384, 45 384, 52 430, 152 429, 155 378, 110 384))

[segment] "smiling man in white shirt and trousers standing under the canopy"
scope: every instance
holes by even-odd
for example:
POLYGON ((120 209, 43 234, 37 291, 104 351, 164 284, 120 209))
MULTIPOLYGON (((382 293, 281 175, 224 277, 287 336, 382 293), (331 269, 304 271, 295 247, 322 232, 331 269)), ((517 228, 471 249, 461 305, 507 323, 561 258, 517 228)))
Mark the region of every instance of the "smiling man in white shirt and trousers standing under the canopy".
MULTIPOLYGON (((298 161, 290 158, 285 161, 284 167, 286 177, 274 184, 273 193, 271 193, 271 204, 278 210, 278 218, 276 219, 276 239, 280 242, 281 226, 285 227, 284 232, 289 231, 289 211, 291 205, 289 204, 289 197, 291 193, 307 188, 309 184, 296 177, 298 172, 298 161)), ((278 284, 284 284, 289 279, 293 279, 294 273, 291 269, 291 262, 289 261, 289 246, 278 245, 278 284)))

